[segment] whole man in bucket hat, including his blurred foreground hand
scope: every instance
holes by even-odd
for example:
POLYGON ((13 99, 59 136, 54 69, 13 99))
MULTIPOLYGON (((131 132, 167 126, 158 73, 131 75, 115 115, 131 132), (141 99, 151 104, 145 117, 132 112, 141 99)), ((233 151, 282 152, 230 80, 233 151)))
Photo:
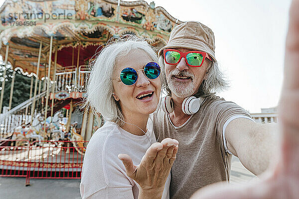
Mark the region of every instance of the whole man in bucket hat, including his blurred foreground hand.
POLYGON ((268 172, 256 184, 237 188, 213 185, 201 189, 194 199, 298 198, 298 10, 299 0, 294 0, 280 104, 281 136, 276 124, 257 124, 243 108, 212 93, 225 83, 217 67, 211 29, 199 22, 186 22, 173 29, 168 44, 158 53, 164 63, 163 86, 171 99, 162 100, 167 113, 160 108, 152 115, 159 140, 172 137, 179 141, 171 170, 170 199, 187 199, 205 185, 228 180, 230 154, 238 156, 256 175, 268 172), (199 98, 197 104, 190 98, 185 100, 191 95, 199 98), (188 103, 195 105, 186 106, 188 103))

